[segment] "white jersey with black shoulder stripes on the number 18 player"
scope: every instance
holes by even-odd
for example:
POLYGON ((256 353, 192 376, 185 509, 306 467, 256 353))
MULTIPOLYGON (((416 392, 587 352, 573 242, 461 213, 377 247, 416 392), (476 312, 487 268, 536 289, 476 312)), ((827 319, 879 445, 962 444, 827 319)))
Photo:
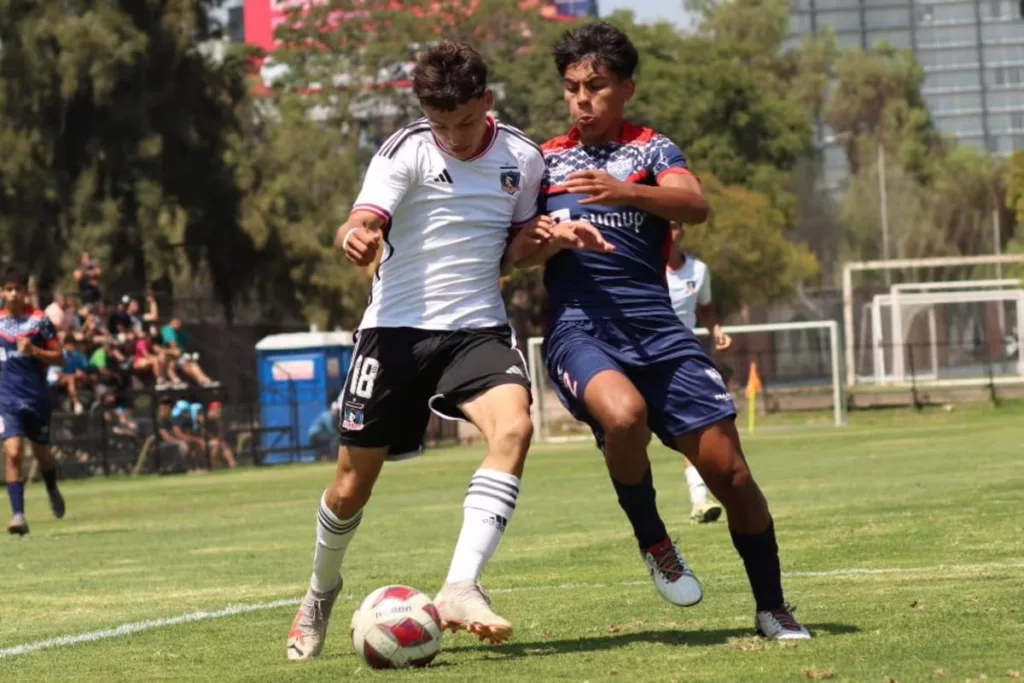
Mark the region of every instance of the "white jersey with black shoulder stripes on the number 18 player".
POLYGON ((541 148, 489 120, 488 143, 450 156, 426 119, 377 152, 353 211, 388 220, 385 251, 360 329, 459 330, 506 325, 499 288, 509 227, 537 215, 541 148))

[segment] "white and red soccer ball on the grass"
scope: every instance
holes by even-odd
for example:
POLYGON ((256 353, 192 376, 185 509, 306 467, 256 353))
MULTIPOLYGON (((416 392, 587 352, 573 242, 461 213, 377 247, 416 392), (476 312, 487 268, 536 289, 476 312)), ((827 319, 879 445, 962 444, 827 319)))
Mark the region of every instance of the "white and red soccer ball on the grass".
POLYGON ((441 615, 423 593, 384 586, 352 614, 352 645, 372 669, 426 667, 441 648, 441 615))

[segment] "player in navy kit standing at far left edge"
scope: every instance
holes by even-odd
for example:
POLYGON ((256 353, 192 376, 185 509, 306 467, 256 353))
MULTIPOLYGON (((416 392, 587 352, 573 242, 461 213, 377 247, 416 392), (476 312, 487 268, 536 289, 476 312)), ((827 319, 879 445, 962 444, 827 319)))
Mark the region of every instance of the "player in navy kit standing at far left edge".
POLYGON ((24 441, 46 483, 53 516, 65 514, 57 488, 56 463, 50 455, 50 390, 46 368, 63 362, 56 330, 46 314, 29 304, 28 275, 11 268, 3 275, 4 308, 0 310, 0 441, 6 461, 7 496, 13 513, 7 531, 25 536, 24 441))

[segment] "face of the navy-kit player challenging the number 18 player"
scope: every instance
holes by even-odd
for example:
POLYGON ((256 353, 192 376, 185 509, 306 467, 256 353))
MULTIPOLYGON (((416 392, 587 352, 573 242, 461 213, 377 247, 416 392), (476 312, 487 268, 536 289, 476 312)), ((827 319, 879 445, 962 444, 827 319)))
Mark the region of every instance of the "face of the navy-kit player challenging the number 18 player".
POLYGON ((585 141, 615 139, 626 116, 626 102, 636 86, 594 61, 578 61, 565 70, 562 91, 569 116, 585 141))

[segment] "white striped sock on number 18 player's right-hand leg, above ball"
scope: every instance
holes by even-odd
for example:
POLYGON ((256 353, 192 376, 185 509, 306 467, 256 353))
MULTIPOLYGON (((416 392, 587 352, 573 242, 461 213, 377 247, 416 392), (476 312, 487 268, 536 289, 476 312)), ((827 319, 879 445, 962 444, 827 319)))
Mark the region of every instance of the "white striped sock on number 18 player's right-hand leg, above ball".
POLYGON ((463 503, 462 531, 455 546, 447 583, 477 581, 512 518, 519 497, 519 477, 480 468, 469 482, 463 503))

